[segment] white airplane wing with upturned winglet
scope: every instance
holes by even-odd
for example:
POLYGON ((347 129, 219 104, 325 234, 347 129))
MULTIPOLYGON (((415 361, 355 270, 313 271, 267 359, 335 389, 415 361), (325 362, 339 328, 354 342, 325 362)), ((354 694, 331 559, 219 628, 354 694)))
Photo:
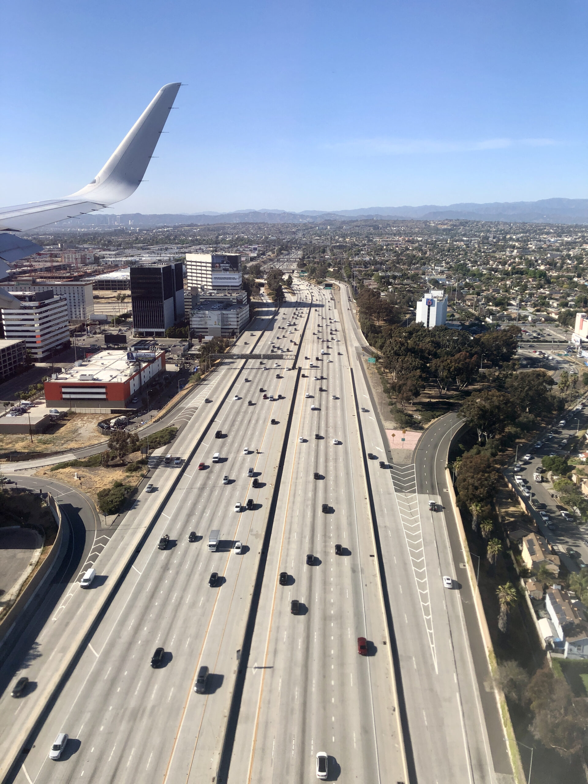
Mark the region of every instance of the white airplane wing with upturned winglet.
MULTIPOLYGON (((128 198, 143 180, 179 89, 180 83, 172 82, 159 90, 100 172, 80 191, 52 201, 31 201, 29 204, 0 207, 0 232, 36 229, 58 220, 103 209, 128 198)), ((29 250, 24 256, 34 252, 29 250)), ((13 257, 10 260, 16 259, 13 257)))

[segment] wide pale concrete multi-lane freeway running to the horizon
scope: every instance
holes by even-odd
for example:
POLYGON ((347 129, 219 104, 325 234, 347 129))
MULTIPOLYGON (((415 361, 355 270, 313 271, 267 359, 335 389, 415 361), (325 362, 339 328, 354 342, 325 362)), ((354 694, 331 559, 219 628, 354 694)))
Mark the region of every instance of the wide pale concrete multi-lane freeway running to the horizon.
POLYGON ((27 718, 54 694, 11 780, 305 782, 315 778, 318 751, 341 782, 510 780, 492 728, 488 739, 463 600, 441 586, 441 574, 454 572, 444 513, 427 508, 433 488, 419 484, 420 464, 416 473, 382 470, 367 458, 387 460, 387 444, 346 292, 332 301, 299 286, 299 303, 284 303, 250 347, 269 352, 279 336, 293 360, 292 339, 300 369, 285 371, 292 360, 281 368, 227 360, 216 374, 207 393, 218 404, 214 422, 200 406, 174 442, 186 461, 180 476, 158 470, 158 491, 140 495, 98 557, 96 587, 73 586, 56 608, 41 655, 23 670, 36 689, 18 702, 2 695, 0 755, 10 760, 27 718), (281 400, 263 400, 260 387, 281 400), (212 463, 213 452, 223 463, 212 463), (236 513, 247 499, 252 510, 236 513), (212 528, 223 540, 216 553, 207 548, 212 528), (188 542, 191 531, 198 542, 188 542), (164 532, 172 541, 162 552, 164 532), (306 564, 309 553, 318 563, 306 564), (220 580, 209 587, 213 571, 220 580), (289 574, 285 586, 280 572, 289 574), (164 665, 151 669, 158 645, 164 665), (58 662, 76 646, 57 688, 58 662), (211 673, 204 695, 194 693, 201 664, 211 673), (54 763, 48 752, 60 731, 71 740, 54 763))

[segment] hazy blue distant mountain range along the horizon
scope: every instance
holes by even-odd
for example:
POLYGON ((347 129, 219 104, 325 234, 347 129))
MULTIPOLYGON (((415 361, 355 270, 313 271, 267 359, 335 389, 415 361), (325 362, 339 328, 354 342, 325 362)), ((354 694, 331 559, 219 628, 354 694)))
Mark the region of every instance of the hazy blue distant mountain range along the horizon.
MULTIPOLYGON (((139 228, 178 225, 210 225, 214 223, 323 223, 355 220, 488 220, 506 223, 588 223, 588 199, 547 198, 540 201, 494 201, 488 204, 461 203, 447 206, 422 205, 420 207, 364 207, 320 212, 305 209, 287 212, 281 209, 240 209, 235 212, 201 212, 198 215, 163 214, 143 215, 140 212, 121 214, 119 225, 139 228)), ((64 220, 61 227, 114 228, 114 216, 93 215, 64 220)), ((45 230, 42 230, 46 233, 45 230)))

